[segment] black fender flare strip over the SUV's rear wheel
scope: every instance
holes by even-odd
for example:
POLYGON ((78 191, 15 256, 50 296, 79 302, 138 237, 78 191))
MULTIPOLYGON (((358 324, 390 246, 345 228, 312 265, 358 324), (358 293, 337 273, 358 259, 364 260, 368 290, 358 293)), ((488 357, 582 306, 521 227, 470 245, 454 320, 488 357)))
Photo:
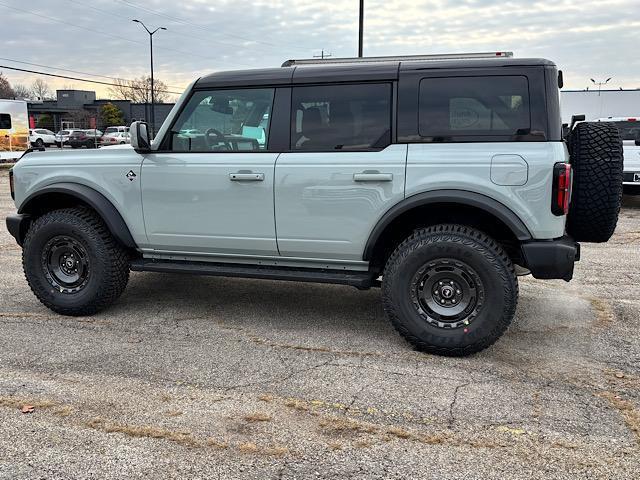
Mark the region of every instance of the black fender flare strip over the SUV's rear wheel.
POLYGON ((371 231, 362 259, 365 261, 371 260, 378 239, 391 222, 400 215, 416 207, 437 203, 453 203, 479 208, 502 221, 518 240, 526 241, 532 238, 529 229, 522 220, 507 206, 491 197, 466 190, 434 190, 412 195, 387 210, 371 231))

